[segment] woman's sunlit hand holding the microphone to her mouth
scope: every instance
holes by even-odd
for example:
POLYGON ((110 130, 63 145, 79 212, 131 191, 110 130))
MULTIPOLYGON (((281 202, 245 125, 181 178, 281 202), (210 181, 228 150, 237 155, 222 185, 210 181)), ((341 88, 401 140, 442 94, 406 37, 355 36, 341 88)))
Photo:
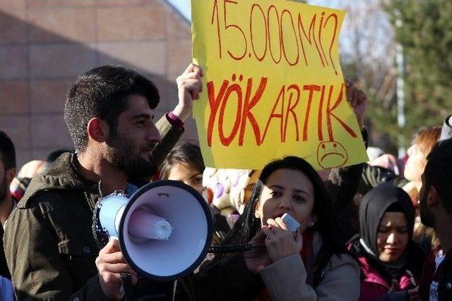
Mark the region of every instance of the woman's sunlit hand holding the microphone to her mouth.
POLYGON ((278 262, 292 254, 299 254, 302 250, 302 235, 297 231, 294 233, 287 229, 283 219, 268 219, 268 226, 262 226, 263 233, 266 233, 266 247, 268 256, 272 262, 278 262))

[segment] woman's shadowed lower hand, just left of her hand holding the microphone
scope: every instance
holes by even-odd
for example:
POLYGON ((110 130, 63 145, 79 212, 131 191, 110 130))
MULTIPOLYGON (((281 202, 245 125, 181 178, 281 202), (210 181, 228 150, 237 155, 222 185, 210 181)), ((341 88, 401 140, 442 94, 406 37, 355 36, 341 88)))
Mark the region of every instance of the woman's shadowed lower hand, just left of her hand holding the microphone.
POLYGON ((266 234, 263 231, 259 232, 254 238, 249 241, 254 248, 250 251, 244 252, 243 257, 245 259, 246 267, 251 271, 251 273, 258 274, 263 268, 271 263, 270 257, 265 246, 264 240, 266 239, 266 234))

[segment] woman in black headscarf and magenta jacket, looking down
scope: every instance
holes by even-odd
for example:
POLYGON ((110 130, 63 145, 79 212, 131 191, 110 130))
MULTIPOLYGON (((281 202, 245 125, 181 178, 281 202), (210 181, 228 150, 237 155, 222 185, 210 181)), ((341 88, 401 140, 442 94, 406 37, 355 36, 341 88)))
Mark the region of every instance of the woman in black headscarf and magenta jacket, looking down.
POLYGON ((426 253, 412 241, 410 196, 382 183, 359 204, 360 234, 347 244, 361 269, 360 300, 420 300, 417 281, 426 253))

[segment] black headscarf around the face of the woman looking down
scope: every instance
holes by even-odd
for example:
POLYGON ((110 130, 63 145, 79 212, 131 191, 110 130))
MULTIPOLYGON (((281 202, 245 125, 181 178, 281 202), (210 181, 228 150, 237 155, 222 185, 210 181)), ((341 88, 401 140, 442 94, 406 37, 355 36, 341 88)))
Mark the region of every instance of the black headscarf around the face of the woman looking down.
POLYGON ((410 239, 415 225, 415 209, 410 196, 402 188, 391 183, 382 183, 371 189, 362 198, 359 204, 359 228, 361 231, 362 251, 367 257, 373 259, 390 274, 397 274, 397 270, 405 266, 407 261, 408 245, 398 262, 384 263, 379 260, 379 251, 376 246, 376 235, 383 215, 388 209, 397 207, 402 211, 408 221, 410 239), (365 246, 362 244, 364 242, 365 246))

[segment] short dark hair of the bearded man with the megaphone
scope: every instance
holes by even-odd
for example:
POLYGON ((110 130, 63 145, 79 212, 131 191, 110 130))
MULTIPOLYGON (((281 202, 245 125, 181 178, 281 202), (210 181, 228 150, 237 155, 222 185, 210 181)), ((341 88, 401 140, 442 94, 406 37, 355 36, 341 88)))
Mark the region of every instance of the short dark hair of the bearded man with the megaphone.
POLYGON ((160 102, 154 83, 123 66, 102 66, 80 75, 71 86, 64 105, 64 121, 76 152, 88 143, 86 128, 93 117, 106 121, 112 137, 117 134, 118 117, 127 109, 127 100, 138 94, 148 100, 150 109, 160 102))

